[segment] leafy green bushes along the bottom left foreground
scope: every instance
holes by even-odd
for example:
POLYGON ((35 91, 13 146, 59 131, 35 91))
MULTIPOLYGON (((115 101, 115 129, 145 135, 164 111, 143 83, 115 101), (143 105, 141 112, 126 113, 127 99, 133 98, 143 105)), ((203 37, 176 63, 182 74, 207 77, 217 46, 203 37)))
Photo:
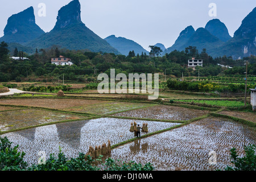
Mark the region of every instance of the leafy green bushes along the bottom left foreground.
POLYGON ((12 142, 7 137, 0 137, 0 140, 0 170, 2 171, 154 171, 155 169, 150 163, 143 166, 141 163, 121 163, 111 158, 106 159, 104 163, 102 155, 98 159, 92 159, 91 156, 80 153, 79 157, 68 159, 61 148, 57 156, 50 154, 45 162, 41 160, 41 164, 28 166, 24 162, 26 154, 17 150, 19 146, 12 148, 12 142))

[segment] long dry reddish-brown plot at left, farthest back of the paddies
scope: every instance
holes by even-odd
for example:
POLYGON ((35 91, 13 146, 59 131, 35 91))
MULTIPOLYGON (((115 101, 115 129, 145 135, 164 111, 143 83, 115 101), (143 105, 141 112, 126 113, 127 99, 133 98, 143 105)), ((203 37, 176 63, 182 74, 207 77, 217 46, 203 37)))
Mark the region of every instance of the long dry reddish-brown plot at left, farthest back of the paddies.
POLYGON ((7 105, 23 105, 33 107, 47 107, 51 109, 65 109, 68 107, 84 106, 91 104, 100 104, 108 101, 98 100, 79 100, 79 99, 65 99, 65 98, 42 98, 42 99, 1 99, 0 104, 7 105))

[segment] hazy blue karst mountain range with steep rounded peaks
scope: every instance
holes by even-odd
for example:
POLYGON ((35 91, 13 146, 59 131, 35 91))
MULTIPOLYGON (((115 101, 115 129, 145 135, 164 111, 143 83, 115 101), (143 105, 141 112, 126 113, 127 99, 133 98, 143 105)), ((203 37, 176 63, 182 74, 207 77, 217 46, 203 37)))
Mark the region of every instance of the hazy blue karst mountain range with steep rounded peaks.
MULTIPOLYGON (((10 51, 15 47, 19 51, 34 53, 35 49, 49 48, 53 45, 67 49, 84 49, 92 52, 108 52, 128 55, 130 51, 136 54, 149 53, 141 45, 122 37, 110 35, 105 39, 94 34, 81 21, 81 6, 79 0, 73 0, 61 7, 57 15, 55 27, 50 32, 44 32, 35 22, 33 7, 10 16, 0 42, 9 44, 10 51)), ((148 45, 152 46, 152 45, 148 45)), ((155 44, 163 50, 162 55, 171 51, 184 51, 188 46, 195 46, 213 57, 232 56, 241 59, 256 55, 256 7, 241 23, 241 26, 230 36, 228 28, 219 19, 210 20, 203 28, 195 30, 192 26, 180 32, 174 45, 169 48, 163 44, 155 44)))

